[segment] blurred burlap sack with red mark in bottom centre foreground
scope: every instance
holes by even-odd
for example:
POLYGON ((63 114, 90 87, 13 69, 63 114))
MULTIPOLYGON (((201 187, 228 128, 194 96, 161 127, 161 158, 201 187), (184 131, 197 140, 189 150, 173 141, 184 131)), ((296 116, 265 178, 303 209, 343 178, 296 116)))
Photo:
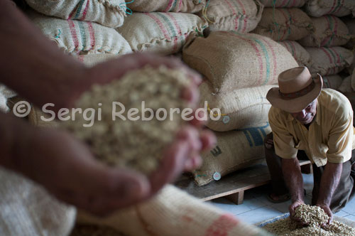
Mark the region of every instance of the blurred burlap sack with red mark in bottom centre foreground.
POLYGON ((78 213, 77 222, 106 225, 127 236, 268 235, 174 186, 166 186, 146 203, 119 210, 108 218, 78 213))

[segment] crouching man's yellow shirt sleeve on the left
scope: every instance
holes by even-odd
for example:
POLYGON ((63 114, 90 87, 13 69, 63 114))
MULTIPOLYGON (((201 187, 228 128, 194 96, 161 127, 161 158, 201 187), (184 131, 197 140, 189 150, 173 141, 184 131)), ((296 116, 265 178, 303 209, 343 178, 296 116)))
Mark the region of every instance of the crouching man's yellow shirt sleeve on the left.
POLYGON ((295 140, 285 126, 285 118, 280 117, 277 110, 271 107, 268 113, 268 120, 273 131, 273 144, 276 155, 283 159, 293 159, 297 157, 295 140))

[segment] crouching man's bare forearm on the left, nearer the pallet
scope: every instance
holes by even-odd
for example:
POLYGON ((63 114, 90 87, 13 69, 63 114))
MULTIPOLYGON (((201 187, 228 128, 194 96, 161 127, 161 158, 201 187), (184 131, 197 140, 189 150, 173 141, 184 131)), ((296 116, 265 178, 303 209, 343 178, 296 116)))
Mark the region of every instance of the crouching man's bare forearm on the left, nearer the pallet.
POLYGON ((283 176, 293 203, 303 201, 303 178, 300 163, 295 159, 282 159, 283 176))

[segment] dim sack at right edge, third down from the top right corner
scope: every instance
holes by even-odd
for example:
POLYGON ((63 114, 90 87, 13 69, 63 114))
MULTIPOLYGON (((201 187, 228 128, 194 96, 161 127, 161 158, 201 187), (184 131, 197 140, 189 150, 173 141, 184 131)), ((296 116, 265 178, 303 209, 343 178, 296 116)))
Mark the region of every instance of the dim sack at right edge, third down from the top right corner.
POLYGON ((322 76, 336 75, 351 65, 354 54, 351 50, 342 47, 332 48, 305 48, 312 58, 310 68, 312 75, 319 73, 322 76))

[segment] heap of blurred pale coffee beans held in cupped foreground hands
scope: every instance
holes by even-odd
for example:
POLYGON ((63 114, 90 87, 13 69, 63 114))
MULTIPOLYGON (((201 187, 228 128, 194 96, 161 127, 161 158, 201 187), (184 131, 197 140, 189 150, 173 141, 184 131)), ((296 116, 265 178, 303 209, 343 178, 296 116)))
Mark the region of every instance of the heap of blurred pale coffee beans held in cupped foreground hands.
POLYGON ((182 114, 172 113, 171 109, 182 112, 192 108, 190 102, 182 99, 182 91, 191 83, 183 70, 165 67, 133 70, 107 85, 94 85, 77 100, 77 108, 102 109, 101 121, 95 119, 92 127, 83 127, 87 120, 77 116, 74 121, 62 122, 62 127, 88 144, 97 159, 109 166, 127 167, 149 175, 158 168, 163 152, 186 122, 182 114), (129 114, 134 108, 134 115, 129 114), (165 119, 163 109, 167 112, 165 119), (114 120, 114 112, 120 112, 126 120, 121 117, 114 120), (143 114, 148 120, 143 119, 143 114))

